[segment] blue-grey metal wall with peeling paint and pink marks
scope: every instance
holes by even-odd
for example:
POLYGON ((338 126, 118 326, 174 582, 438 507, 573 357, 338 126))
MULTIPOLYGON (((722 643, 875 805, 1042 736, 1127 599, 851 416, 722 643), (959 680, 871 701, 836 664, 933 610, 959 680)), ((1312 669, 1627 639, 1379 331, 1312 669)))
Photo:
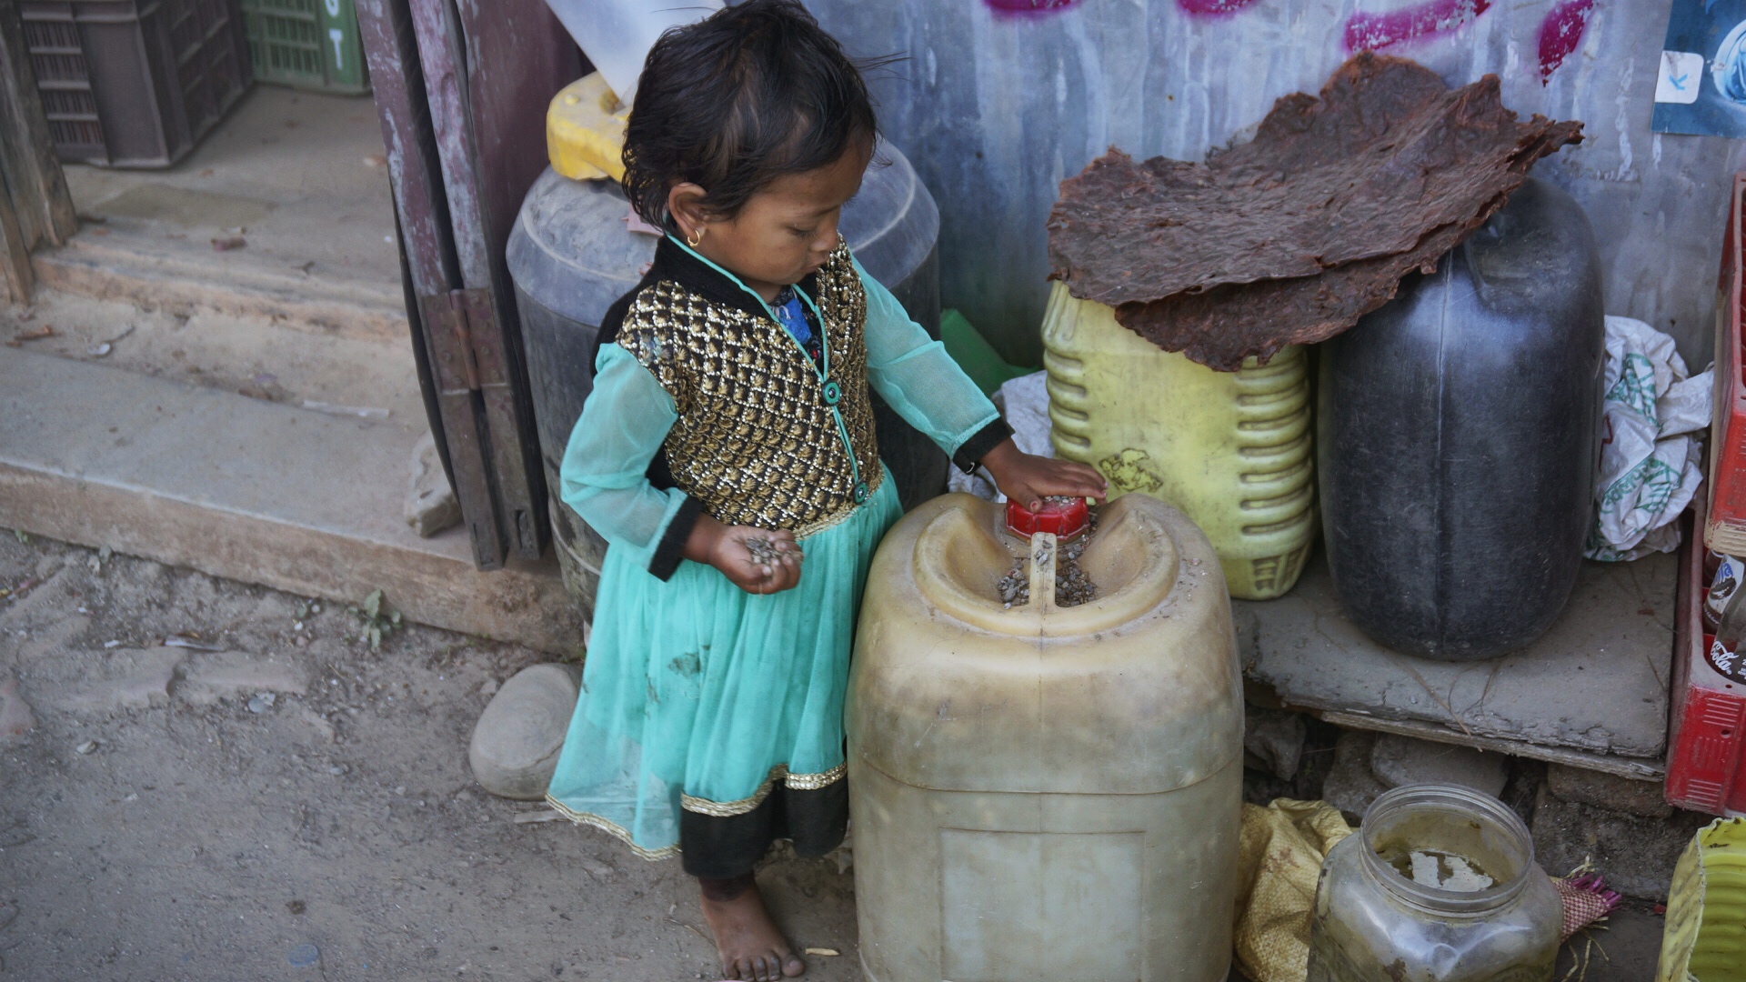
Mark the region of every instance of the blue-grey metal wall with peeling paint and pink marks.
POLYGON ((1201 159, 1353 44, 1451 86, 1495 72, 1524 114, 1584 121, 1542 163, 1589 210, 1606 309, 1709 362, 1730 175, 1746 143, 1648 131, 1671 0, 807 0, 875 79, 887 135, 939 201, 941 294, 1007 358, 1039 360, 1044 218, 1107 147, 1201 159))

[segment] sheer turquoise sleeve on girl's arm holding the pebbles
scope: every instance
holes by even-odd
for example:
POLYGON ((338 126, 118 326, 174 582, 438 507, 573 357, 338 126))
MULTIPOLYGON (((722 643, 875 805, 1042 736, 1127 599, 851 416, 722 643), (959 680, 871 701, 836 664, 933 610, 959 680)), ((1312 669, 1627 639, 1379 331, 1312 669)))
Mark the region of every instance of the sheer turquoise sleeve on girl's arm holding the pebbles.
POLYGON ((602 344, 594 391, 569 433, 559 468, 559 494, 613 549, 629 549, 660 578, 679 564, 697 501, 683 491, 658 491, 650 461, 677 421, 672 397, 629 351, 602 344))

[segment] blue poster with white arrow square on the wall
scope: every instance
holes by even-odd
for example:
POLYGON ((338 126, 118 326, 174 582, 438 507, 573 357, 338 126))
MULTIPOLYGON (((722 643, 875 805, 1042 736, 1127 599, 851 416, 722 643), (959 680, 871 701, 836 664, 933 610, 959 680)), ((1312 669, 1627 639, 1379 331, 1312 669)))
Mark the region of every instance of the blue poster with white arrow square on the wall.
POLYGON ((1746 136, 1746 0, 1673 0, 1659 68, 1652 129, 1746 136))

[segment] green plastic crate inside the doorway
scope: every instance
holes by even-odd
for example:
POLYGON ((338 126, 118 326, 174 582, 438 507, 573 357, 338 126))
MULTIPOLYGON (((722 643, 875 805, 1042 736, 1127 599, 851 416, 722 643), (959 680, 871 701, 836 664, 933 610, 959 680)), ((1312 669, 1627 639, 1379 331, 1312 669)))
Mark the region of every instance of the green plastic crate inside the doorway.
POLYGON ((255 80, 360 94, 370 91, 353 0, 243 0, 255 80))

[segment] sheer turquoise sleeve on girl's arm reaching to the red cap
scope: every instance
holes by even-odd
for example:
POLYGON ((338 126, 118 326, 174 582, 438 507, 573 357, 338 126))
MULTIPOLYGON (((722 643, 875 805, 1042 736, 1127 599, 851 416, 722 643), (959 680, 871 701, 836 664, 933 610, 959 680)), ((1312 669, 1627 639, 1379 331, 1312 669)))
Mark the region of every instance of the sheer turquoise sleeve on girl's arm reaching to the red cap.
POLYGON ((952 355, 946 355, 946 346, 910 320, 897 297, 868 276, 859 260, 856 273, 868 295, 868 383, 873 391, 952 454, 952 461, 964 472, 976 470, 976 461, 1011 437, 1013 430, 952 355))

